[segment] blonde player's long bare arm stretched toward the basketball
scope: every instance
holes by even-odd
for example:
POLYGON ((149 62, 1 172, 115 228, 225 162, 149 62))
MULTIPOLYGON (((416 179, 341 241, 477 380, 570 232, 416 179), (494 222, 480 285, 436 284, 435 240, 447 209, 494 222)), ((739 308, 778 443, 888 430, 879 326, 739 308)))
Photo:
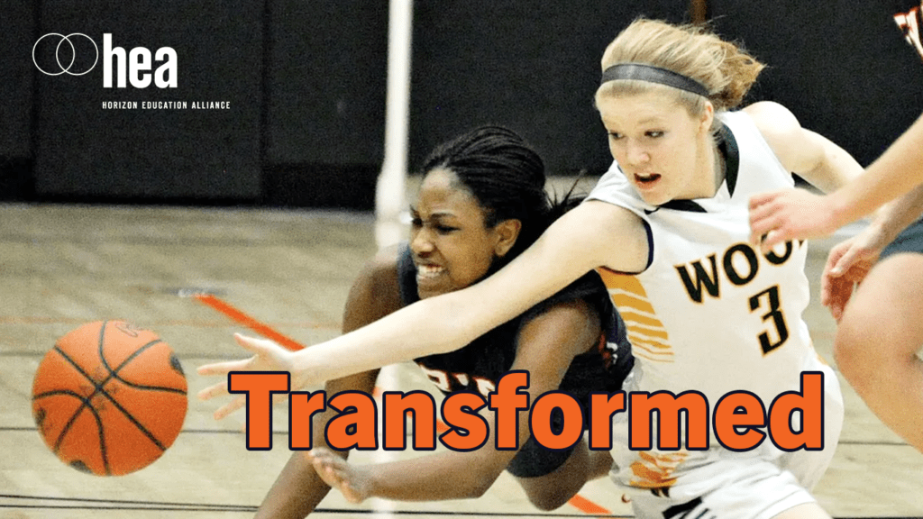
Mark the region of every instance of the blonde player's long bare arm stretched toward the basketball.
MULTIPOLYGON (((584 202, 484 281, 418 301, 354 332, 285 356, 278 369, 307 384, 453 351, 598 266, 640 272, 647 265, 647 254, 647 235, 637 216, 605 202, 584 202)), ((232 364, 203 366, 199 373, 226 374, 232 364)), ((226 392, 218 384, 200 397, 226 392)), ((223 414, 244 404, 242 399, 234 400, 223 414)))

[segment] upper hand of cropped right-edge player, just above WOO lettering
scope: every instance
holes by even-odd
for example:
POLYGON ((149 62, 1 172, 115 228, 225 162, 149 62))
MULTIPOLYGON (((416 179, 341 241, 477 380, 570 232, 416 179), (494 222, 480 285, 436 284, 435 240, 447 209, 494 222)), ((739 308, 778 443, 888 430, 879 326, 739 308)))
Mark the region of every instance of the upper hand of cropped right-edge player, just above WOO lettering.
POLYGON ((828 200, 799 188, 750 197, 750 243, 765 252, 789 240, 830 235, 839 225, 828 200))

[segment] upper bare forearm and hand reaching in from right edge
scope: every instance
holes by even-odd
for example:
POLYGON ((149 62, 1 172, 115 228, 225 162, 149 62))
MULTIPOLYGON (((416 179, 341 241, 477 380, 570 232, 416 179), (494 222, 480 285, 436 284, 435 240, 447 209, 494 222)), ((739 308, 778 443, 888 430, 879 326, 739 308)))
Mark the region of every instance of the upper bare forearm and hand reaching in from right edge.
MULTIPOLYGON (((773 242, 828 235, 923 182, 923 116, 917 119, 864 174, 827 196, 786 189, 750 200, 754 238, 772 231, 773 242)), ((901 227, 905 210, 917 195, 905 200, 880 223, 901 227), (893 219, 893 221, 891 220, 893 219)), ((917 200, 918 201, 918 200, 917 200)), ((917 214, 918 215, 918 214, 917 214)), ((912 221, 914 218, 910 217, 912 221)))

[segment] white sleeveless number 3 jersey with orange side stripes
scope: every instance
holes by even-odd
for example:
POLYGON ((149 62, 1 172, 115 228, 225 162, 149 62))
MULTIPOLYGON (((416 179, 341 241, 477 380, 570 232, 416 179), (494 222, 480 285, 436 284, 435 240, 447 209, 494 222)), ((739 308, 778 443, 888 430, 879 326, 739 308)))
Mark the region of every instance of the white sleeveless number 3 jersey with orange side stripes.
MULTIPOLYGON (((719 119, 725 124, 726 175, 713 198, 649 205, 616 163, 588 198, 634 212, 649 231, 651 255, 644 272, 599 270, 625 320, 638 366, 626 391, 701 392, 710 412, 726 393, 748 391, 768 411, 780 393, 800 391, 802 371, 824 370, 826 392, 839 398, 835 375, 814 352, 802 320, 809 303, 807 243, 779 245, 765 255, 749 245, 749 197, 793 187, 792 175, 749 115, 726 113, 719 119)), ((830 411, 826 415, 835 421, 836 410, 830 411)), ((626 441, 627 428, 624 419, 615 424, 615 441, 626 441)), ((839 427, 830 423, 827 428, 834 434, 828 441, 832 454, 839 427)), ((670 487, 683 465, 703 468, 715 456, 732 454, 713 436, 710 447, 709 452, 671 453, 616 449, 622 468, 617 481, 670 487), (650 474, 639 470, 642 465, 650 474)), ((759 451, 739 455, 782 454, 769 440, 759 451)))

